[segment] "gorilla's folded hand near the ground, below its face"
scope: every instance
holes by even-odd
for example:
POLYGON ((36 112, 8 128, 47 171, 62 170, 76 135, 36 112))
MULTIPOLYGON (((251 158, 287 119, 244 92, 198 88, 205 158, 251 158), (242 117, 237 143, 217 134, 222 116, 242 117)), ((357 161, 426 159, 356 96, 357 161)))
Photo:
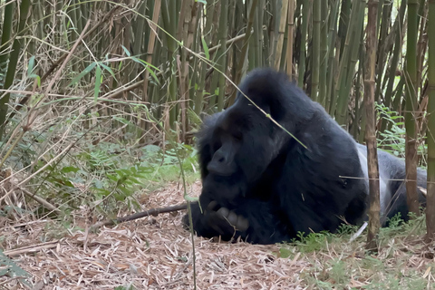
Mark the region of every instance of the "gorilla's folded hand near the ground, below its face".
POLYGON ((208 226, 212 227, 222 236, 232 235, 236 230, 244 232, 249 227, 247 218, 237 215, 233 210, 228 208, 219 208, 218 202, 214 200, 208 204, 204 216, 208 226))

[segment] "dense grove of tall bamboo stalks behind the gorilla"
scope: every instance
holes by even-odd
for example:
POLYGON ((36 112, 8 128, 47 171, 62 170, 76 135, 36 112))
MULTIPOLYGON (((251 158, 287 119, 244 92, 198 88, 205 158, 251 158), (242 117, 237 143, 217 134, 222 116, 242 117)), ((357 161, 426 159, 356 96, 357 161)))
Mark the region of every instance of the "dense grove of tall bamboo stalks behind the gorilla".
MULTIPOLYGON (((435 1, 375 2, 376 138, 388 149, 391 132, 406 131, 407 162, 427 164, 435 180, 435 1)), ((85 112, 124 114, 129 125, 112 121, 111 131, 145 143, 173 131, 189 142, 203 113, 234 102, 247 71, 272 66, 364 141, 365 0, 3 0, 0 11, 4 139, 24 110, 63 96, 57 102, 84 103, 85 112)), ((435 218, 428 223, 435 232, 435 218)))

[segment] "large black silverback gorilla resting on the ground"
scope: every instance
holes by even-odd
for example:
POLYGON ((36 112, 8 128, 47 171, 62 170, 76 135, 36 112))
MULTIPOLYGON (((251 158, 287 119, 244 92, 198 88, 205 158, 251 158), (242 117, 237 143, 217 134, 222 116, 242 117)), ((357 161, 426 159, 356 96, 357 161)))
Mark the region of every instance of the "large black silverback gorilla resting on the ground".
MULTIPOLYGON (((192 204, 193 228, 202 237, 241 237, 255 244, 290 241, 298 232, 334 232, 345 221, 367 219, 366 147, 353 138, 285 73, 257 69, 240 90, 281 124, 279 128, 241 93, 198 133, 203 182, 192 204)), ((406 219, 402 160, 378 150, 382 224, 406 219)), ((418 185, 426 188, 426 171, 418 185)), ((425 199, 420 193, 420 203, 425 199)), ((183 218, 189 225, 189 218, 183 218)), ((189 227, 189 226, 188 226, 189 227)))

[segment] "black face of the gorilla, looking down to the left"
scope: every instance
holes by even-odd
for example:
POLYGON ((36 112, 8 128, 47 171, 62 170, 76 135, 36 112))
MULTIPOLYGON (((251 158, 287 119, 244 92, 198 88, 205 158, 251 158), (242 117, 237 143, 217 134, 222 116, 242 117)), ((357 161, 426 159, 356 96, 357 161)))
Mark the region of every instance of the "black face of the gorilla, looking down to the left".
POLYGON ((243 110, 238 108, 228 109, 217 122, 207 169, 215 176, 243 177, 252 183, 275 159, 283 134, 277 133, 277 127, 256 107, 246 104, 243 110))

